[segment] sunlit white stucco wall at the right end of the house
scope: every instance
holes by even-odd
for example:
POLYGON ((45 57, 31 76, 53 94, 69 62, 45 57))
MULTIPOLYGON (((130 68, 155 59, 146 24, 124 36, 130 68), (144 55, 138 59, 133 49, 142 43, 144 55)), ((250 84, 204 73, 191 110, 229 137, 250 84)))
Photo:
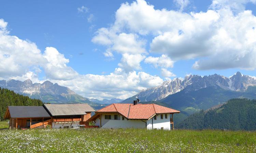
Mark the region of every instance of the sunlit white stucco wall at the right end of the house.
MULTIPOLYGON (((165 114, 163 114, 163 119, 161 119, 161 115, 158 114, 156 120, 153 119, 153 129, 161 129, 171 130, 170 125, 170 114, 167 114, 167 119, 165 118, 165 114)), ((152 129, 152 119, 147 120, 147 129, 152 129)))

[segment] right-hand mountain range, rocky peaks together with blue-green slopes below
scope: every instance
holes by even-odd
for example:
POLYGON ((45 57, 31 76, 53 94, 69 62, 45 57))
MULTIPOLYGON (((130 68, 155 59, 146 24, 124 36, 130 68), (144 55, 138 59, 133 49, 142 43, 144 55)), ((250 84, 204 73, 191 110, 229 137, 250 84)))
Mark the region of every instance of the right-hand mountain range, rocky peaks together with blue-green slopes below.
MULTIPOLYGON (((163 82, 122 101, 128 103, 138 97, 141 103, 156 103, 181 111, 174 115, 177 125, 189 115, 225 103, 233 98, 256 99, 256 80, 237 72, 231 77, 214 74, 189 75, 184 79, 163 82)), ((175 126, 175 125, 174 125, 175 126)))

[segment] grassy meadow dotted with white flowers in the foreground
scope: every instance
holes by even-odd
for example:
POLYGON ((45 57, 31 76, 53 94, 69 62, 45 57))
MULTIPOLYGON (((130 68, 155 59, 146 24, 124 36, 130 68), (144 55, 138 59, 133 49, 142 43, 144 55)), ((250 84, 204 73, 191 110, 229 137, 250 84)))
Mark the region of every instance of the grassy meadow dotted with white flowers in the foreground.
POLYGON ((0 152, 256 152, 256 132, 0 130, 0 152))

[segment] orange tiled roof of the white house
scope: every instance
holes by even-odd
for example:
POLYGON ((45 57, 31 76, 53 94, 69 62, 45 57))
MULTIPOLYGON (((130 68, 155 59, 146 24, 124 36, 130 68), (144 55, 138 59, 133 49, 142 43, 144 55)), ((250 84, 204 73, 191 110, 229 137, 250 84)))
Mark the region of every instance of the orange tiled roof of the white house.
POLYGON ((110 104, 104 108, 99 109, 95 113, 103 112, 117 112, 128 119, 149 119, 155 114, 163 113, 180 113, 175 109, 160 106, 157 104, 110 104))

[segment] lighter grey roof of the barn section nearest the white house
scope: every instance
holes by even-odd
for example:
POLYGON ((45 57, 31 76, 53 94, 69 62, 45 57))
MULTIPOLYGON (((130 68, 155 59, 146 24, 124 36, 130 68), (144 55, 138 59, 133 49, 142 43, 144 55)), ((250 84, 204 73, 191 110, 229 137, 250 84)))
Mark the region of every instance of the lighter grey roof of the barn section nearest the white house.
POLYGON ((88 104, 44 104, 52 116, 85 115, 95 110, 88 104))

